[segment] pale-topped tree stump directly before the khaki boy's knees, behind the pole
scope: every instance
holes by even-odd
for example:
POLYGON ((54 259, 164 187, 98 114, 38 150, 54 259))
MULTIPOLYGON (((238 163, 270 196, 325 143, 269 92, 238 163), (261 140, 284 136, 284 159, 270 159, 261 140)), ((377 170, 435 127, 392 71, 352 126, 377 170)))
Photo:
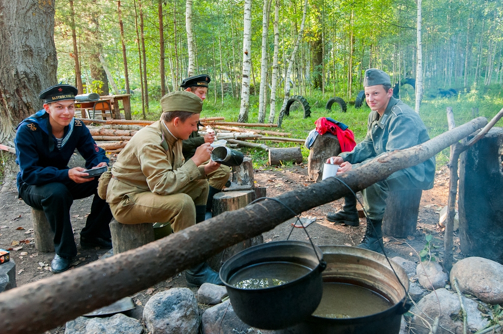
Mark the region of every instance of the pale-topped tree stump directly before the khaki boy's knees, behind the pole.
MULTIPOLYGON (((218 193, 213 197, 213 216, 217 216, 225 211, 233 211, 244 208, 246 205, 248 205, 248 203, 255 199, 256 193, 254 190, 218 193)), ((262 234, 243 240, 228 248, 225 248, 221 253, 210 258, 208 260, 208 264, 213 270, 219 271, 220 267, 225 263, 225 261, 230 259, 235 254, 241 252, 241 250, 263 242, 264 237, 262 236, 262 234)))

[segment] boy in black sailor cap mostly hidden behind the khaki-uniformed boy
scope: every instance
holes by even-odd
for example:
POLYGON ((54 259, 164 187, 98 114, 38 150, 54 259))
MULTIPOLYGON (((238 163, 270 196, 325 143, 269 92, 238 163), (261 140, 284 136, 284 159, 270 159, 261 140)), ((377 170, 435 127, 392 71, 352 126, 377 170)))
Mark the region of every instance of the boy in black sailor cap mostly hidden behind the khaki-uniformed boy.
MULTIPOLYGON (((201 100, 206 99, 206 94, 208 93, 208 84, 211 81, 210 76, 207 74, 201 74, 196 76, 190 76, 182 81, 182 87, 186 92, 191 92, 196 94, 201 100)), ((197 131, 194 131, 189 136, 189 139, 184 140, 182 143, 182 151, 184 153, 185 159, 190 159, 196 149, 203 143, 213 143, 215 140, 215 133, 207 133, 204 136, 199 135, 197 131)), ((213 196, 218 194, 222 188, 226 185, 230 176, 230 168, 226 165, 220 165, 220 167, 213 173, 206 176, 208 179, 208 184, 210 185, 208 193, 208 201, 206 203, 206 211, 211 211, 211 206, 213 204, 213 196)), ((229 183, 230 185, 230 183, 229 183)), ((211 217, 211 214, 209 215, 211 217)))

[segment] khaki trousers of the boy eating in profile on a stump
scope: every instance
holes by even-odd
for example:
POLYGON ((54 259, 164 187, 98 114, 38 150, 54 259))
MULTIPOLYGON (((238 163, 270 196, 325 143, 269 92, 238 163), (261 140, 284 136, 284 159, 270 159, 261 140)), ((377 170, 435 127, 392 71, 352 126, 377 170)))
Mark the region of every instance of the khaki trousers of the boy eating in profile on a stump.
POLYGON ((123 224, 167 223, 178 232, 196 224, 196 206, 206 206, 208 181, 195 180, 179 194, 129 193, 118 203, 109 203, 115 219, 123 224))

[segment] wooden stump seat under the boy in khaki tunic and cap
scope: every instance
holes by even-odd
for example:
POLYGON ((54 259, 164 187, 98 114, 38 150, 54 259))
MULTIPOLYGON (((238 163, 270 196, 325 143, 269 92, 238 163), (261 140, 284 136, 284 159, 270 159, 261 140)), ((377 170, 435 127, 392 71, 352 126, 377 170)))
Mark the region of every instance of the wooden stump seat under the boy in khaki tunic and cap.
POLYGON ((112 234, 114 254, 126 252, 126 250, 138 248, 154 241, 152 223, 122 224, 112 219, 110 233, 112 234))

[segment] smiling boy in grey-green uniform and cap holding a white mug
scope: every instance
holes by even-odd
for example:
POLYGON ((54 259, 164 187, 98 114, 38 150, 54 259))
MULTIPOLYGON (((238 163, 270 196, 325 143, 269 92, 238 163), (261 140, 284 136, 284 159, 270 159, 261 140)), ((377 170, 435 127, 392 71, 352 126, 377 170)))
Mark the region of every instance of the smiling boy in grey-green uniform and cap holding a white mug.
MULTIPOLYGON (((397 149, 404 149, 429 140, 428 131, 418 114, 409 106, 393 98, 391 81, 385 72, 370 68, 363 80, 367 105, 372 110, 367 122, 367 135, 351 152, 332 157, 340 164, 338 175, 364 164, 375 157, 397 149)), ((329 159, 327 159, 327 162, 329 159)), ((406 189, 431 189, 435 176, 435 157, 391 174, 362 191, 367 211, 367 230, 358 247, 381 252, 382 218, 389 191, 406 189)), ((343 210, 327 214, 327 219, 358 226, 356 198, 344 198, 343 210)))

